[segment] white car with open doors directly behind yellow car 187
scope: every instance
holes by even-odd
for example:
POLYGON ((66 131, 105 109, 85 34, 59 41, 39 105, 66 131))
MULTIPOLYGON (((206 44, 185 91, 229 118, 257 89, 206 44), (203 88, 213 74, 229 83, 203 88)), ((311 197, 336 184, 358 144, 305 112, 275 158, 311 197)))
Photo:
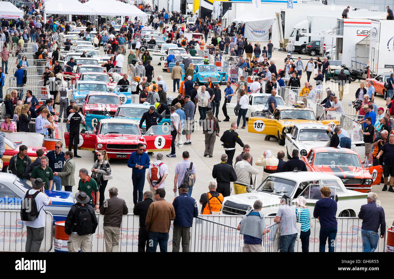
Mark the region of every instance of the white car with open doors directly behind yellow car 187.
MULTIPOLYGON (((249 118, 251 116, 260 116, 259 113, 261 113, 264 110, 267 110, 268 106, 269 106, 269 104, 268 104, 269 96, 271 96, 271 94, 265 94, 265 93, 250 94, 246 118, 249 118), (253 115, 252 115, 252 113, 253 113, 253 115)), ((285 105, 281 96, 278 96, 278 95, 275 96, 275 100, 276 100, 276 104, 278 105, 278 107, 283 107, 285 105)), ((237 105, 236 102, 226 104, 227 113, 229 115, 235 115, 235 106, 236 105, 237 105)))

